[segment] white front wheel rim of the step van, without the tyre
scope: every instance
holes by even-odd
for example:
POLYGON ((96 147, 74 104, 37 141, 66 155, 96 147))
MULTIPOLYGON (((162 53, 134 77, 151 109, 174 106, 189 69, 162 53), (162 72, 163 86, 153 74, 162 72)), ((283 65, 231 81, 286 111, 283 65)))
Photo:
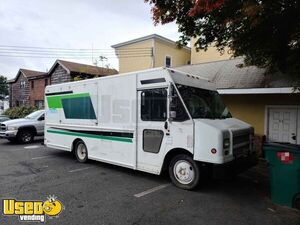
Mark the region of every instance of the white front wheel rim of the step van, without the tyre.
POLYGON ((176 180, 181 184, 190 184, 195 179, 194 168, 186 160, 179 160, 173 167, 176 180))

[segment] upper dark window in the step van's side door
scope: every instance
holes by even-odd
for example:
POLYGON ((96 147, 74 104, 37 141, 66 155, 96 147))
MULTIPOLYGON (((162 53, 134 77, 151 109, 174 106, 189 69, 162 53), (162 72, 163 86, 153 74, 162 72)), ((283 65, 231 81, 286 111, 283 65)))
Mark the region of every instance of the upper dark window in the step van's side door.
POLYGON ((166 89, 152 89, 141 93, 141 119, 144 121, 167 119, 166 89))

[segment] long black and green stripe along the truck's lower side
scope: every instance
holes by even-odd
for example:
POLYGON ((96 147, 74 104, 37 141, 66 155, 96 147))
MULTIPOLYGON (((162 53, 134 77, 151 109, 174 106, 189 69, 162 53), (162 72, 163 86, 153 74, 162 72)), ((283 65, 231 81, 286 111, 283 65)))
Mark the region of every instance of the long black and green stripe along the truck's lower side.
POLYGON ((53 134, 62 134, 62 135, 69 135, 69 136, 87 137, 87 138, 95 138, 95 139, 102 139, 102 140, 109 140, 109 141, 120 141, 120 142, 132 143, 132 138, 125 138, 125 137, 112 137, 112 136, 85 134, 80 132, 60 131, 60 130, 50 130, 50 129, 47 130, 47 132, 53 134))

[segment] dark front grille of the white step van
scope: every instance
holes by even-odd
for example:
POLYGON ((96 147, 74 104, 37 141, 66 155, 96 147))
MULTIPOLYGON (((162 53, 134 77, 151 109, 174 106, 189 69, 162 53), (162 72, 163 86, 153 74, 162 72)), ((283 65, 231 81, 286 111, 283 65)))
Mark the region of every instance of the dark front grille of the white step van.
POLYGON ((250 131, 233 132, 233 155, 240 156, 248 154, 250 151, 250 131))

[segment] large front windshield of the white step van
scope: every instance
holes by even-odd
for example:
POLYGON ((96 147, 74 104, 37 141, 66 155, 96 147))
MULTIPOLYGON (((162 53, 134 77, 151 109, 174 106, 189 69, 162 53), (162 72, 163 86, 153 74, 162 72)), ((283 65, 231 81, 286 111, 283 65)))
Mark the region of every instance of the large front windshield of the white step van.
POLYGON ((231 114, 217 91, 176 84, 192 118, 226 119, 231 114))

